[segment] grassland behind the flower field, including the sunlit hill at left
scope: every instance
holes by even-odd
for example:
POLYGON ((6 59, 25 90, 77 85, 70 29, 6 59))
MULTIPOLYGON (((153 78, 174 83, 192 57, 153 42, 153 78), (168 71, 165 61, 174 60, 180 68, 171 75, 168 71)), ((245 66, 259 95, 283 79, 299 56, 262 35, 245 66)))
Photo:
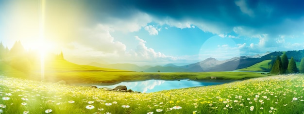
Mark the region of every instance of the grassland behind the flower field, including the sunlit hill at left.
MULTIPOLYGON (((0 62, 0 74, 9 77, 41 81, 39 65, 33 65, 30 72, 21 72, 8 64, 0 62)), ((150 73, 131 72, 89 65, 77 65, 64 60, 46 62, 45 79, 48 82, 66 81, 67 83, 113 83, 120 81, 144 80, 204 80, 217 77, 217 80, 242 80, 263 77, 255 72, 172 72, 150 73)))

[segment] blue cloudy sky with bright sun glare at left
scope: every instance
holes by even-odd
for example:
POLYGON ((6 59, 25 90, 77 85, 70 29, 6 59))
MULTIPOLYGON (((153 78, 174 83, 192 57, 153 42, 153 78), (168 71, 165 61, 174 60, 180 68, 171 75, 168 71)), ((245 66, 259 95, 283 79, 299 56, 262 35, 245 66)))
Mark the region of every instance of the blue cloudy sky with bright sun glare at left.
POLYGON ((303 0, 0 0, 0 41, 77 63, 190 64, 304 49, 303 0))

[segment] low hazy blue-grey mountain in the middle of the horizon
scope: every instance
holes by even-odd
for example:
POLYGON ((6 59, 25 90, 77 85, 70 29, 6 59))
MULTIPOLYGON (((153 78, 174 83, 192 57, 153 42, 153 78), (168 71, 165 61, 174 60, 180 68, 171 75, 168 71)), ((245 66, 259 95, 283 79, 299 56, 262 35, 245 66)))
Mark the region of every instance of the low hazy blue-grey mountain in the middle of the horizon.
POLYGON ((154 66, 145 70, 145 72, 192 72, 189 69, 181 68, 181 67, 172 67, 172 66, 154 66))

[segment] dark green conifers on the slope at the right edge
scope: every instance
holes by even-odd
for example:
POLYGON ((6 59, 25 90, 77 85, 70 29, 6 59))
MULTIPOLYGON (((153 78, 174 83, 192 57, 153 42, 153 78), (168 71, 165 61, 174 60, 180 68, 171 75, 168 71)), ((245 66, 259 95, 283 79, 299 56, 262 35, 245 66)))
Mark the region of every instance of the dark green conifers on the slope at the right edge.
POLYGON ((271 68, 271 74, 304 73, 304 57, 301 59, 300 67, 297 68, 293 56, 290 58, 290 61, 288 61, 287 54, 284 53, 282 57, 277 56, 276 59, 272 59, 269 67, 271 68))

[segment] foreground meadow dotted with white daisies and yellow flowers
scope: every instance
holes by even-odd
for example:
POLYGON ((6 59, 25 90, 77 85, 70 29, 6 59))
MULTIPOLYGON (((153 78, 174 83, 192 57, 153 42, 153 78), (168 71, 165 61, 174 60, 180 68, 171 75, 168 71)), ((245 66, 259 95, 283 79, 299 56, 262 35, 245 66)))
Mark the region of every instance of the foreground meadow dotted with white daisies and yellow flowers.
POLYGON ((0 77, 0 114, 304 114, 304 76, 269 76, 155 93, 0 77))

